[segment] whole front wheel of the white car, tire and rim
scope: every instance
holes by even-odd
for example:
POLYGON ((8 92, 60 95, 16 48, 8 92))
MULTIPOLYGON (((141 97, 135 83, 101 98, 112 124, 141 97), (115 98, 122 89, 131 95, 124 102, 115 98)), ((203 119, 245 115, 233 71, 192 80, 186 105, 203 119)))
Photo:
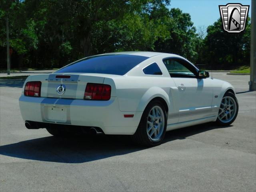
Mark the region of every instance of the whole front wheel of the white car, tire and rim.
POLYGON ((222 126, 230 125, 236 119, 237 114, 238 101, 236 96, 231 92, 227 92, 221 100, 216 123, 222 126))

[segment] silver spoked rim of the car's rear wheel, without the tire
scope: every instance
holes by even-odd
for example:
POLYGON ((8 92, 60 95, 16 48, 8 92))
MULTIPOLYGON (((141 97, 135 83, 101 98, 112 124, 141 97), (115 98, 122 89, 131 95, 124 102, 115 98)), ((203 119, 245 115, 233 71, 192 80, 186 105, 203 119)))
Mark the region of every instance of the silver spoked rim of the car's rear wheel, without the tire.
POLYGON ((147 133, 152 141, 160 140, 164 130, 164 112, 159 106, 154 106, 148 114, 147 133))

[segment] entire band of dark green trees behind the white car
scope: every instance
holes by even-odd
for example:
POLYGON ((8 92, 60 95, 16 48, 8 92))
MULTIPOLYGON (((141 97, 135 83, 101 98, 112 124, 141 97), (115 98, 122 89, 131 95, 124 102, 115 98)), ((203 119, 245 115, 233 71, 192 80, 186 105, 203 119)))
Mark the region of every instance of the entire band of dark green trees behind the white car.
POLYGON ((6 17, 12 67, 57 68, 105 52, 158 51, 195 64, 248 62, 250 23, 243 34, 221 22, 197 34, 190 15, 170 0, 0 0, 0 68, 6 66, 6 17), (214 57, 214 58, 213 58, 214 57))

